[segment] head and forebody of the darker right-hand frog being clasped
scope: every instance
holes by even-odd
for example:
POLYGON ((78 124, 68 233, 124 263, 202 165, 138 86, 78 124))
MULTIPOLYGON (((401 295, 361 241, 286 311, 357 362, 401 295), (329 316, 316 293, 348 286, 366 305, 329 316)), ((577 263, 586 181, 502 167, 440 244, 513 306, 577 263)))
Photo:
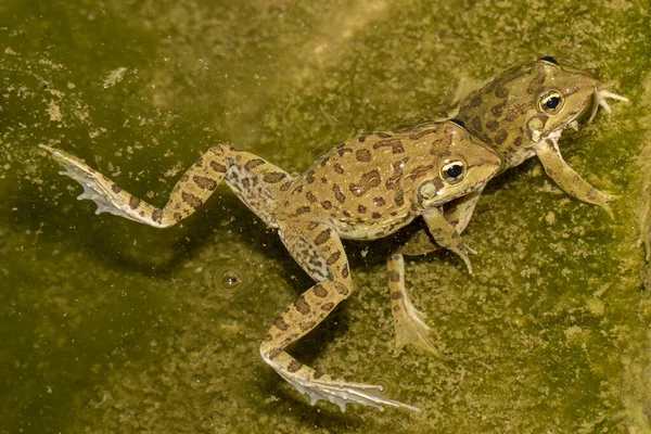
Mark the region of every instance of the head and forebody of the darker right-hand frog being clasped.
POLYGON ((532 156, 541 140, 558 140, 563 129, 576 129, 585 116, 591 120, 599 106, 610 112, 607 98, 626 100, 601 89, 590 74, 545 56, 471 93, 458 117, 510 167, 532 156))

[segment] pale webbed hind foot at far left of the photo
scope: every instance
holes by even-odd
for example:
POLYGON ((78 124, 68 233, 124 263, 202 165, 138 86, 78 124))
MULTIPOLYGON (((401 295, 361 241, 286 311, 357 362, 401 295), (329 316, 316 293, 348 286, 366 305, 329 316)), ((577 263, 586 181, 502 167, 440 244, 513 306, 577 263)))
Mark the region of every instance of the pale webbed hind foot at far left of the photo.
POLYGON ((77 200, 82 201, 88 199, 94 202, 98 205, 95 215, 111 213, 138 221, 137 216, 131 215, 127 206, 122 207, 116 205, 120 201, 114 191, 114 183, 108 178, 93 170, 67 152, 44 144, 39 144, 38 146, 50 152, 54 159, 66 169, 65 171, 60 171, 59 175, 65 175, 81 184, 84 192, 77 196, 77 200))

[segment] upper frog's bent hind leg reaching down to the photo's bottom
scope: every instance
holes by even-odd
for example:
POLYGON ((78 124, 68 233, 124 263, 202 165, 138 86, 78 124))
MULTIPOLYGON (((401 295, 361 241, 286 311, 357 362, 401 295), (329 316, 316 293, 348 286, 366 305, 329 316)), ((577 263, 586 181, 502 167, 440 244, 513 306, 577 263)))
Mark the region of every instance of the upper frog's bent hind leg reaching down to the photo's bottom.
POLYGON ((318 283, 276 319, 260 345, 265 362, 298 392, 307 394, 311 405, 323 399, 337 405, 342 411, 350 403, 379 409, 386 405, 419 411, 416 407, 383 397, 380 394, 382 386, 345 382, 302 363, 284 350, 350 295, 353 281, 342 242, 328 225, 282 222, 279 233, 292 256, 318 283))

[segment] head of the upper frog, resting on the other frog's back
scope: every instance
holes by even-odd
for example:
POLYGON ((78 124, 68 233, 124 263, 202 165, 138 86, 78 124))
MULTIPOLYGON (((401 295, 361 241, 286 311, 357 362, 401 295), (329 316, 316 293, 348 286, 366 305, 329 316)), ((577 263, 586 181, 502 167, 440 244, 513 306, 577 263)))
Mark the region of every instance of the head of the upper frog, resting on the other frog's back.
POLYGON ((443 124, 433 177, 418 186, 418 201, 431 209, 483 188, 502 167, 502 159, 486 143, 470 133, 459 119, 443 124))

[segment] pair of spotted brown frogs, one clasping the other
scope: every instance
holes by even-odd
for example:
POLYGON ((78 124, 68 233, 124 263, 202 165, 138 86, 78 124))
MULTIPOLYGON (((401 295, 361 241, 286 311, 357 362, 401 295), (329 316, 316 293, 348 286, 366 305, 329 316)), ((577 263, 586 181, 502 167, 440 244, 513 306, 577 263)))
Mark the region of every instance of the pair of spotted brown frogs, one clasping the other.
POLYGON ((611 93, 589 74, 559 65, 552 58, 515 67, 471 93, 454 119, 418 125, 400 132, 370 132, 348 139, 293 177, 257 155, 217 144, 186 171, 169 201, 157 208, 63 151, 41 145, 84 187, 81 199, 108 212, 156 228, 194 213, 221 181, 269 227, 317 282, 289 306, 265 336, 263 359, 314 405, 328 399, 418 408, 386 398, 382 387, 350 383, 296 360, 285 347, 307 334, 354 290, 342 239, 386 237, 420 217, 425 225, 388 258, 396 350, 408 343, 433 348, 429 327, 409 301, 404 255, 439 247, 459 255, 471 271, 461 232, 486 183, 536 155, 547 174, 569 194, 609 207, 611 196, 576 174, 562 158, 563 129, 610 113, 611 93))

